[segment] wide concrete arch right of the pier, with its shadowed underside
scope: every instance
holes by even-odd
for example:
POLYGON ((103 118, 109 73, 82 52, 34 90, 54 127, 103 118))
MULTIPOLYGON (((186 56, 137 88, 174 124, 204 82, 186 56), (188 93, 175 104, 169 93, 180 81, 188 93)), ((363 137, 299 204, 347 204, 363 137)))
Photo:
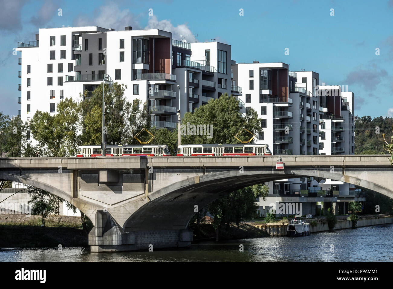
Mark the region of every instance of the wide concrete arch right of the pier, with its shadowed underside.
MULTIPOLYGON (((376 169, 377 173, 392 172, 392 168, 376 169)), ((143 230, 152 224, 162 229, 185 229, 190 219, 195 215, 195 205, 202 208, 222 195, 253 184, 266 183, 280 179, 298 177, 319 177, 347 182, 377 191, 393 199, 392 182, 382 185, 374 175, 361 169, 342 169, 331 172, 330 168, 287 168, 281 171, 275 169, 239 169, 219 171, 187 178, 175 182, 165 188, 149 194, 150 202, 141 206, 125 222, 125 231, 143 230), (368 173, 368 175, 367 175, 368 173), (219 188, 219 189, 217 189, 219 188), (143 219, 140 217, 143 216, 143 219), (136 229, 137 228, 137 229, 136 229)))

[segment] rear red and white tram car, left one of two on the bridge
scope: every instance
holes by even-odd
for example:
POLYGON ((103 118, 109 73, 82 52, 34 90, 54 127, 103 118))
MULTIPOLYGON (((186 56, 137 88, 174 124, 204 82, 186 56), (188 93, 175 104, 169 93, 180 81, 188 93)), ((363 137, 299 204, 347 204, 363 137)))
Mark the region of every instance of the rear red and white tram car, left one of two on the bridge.
MULTIPOLYGON (((101 156, 101 145, 81 145, 77 156, 101 156)), ((106 156, 170 156, 167 145, 107 145, 106 156)))

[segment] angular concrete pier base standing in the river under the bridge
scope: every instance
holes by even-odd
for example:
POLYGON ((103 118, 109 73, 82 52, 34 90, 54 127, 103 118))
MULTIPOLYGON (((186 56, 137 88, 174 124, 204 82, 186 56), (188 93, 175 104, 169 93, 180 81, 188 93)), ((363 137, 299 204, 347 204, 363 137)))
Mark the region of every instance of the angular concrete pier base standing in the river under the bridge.
POLYGON ((89 233, 90 252, 95 253, 190 247, 192 240, 190 229, 125 232, 103 210, 96 212, 95 226, 89 233))

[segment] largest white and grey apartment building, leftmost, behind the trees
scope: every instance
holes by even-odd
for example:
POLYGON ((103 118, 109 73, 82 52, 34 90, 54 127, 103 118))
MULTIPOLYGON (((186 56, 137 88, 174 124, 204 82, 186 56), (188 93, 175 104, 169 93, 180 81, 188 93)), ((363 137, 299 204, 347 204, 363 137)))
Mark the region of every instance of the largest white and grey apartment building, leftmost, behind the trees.
POLYGON ((179 103, 183 116, 223 93, 241 93, 231 87, 230 45, 186 43, 159 29, 39 29, 18 51, 24 121, 37 110, 55 114, 61 99, 88 97, 103 81, 127 85, 129 101, 147 101, 151 125, 168 129, 176 127, 179 103))

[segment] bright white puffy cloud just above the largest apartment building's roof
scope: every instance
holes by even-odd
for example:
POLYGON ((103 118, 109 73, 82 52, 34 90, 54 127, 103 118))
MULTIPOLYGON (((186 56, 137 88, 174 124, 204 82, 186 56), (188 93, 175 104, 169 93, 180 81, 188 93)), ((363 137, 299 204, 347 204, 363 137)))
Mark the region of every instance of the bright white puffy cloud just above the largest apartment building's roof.
POLYGON ((159 21, 155 15, 149 17, 149 21, 147 22, 147 26, 145 27, 145 29, 161 29, 164 31, 172 32, 172 39, 185 39, 187 40, 187 42, 195 41, 194 35, 188 28, 187 24, 179 24, 178 26, 173 26, 170 20, 164 19, 159 21))

